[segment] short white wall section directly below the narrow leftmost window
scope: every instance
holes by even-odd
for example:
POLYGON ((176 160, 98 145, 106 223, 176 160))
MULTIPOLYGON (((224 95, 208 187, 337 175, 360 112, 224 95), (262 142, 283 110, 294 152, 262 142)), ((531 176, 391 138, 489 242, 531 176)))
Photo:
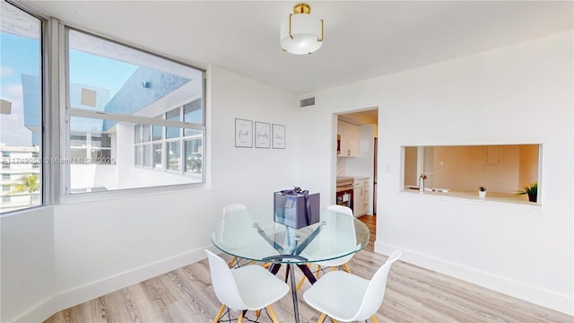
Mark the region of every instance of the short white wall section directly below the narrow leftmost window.
POLYGON ((53 208, 16 211, 0 218, 0 322, 32 311, 28 321, 54 313, 56 289, 53 208))

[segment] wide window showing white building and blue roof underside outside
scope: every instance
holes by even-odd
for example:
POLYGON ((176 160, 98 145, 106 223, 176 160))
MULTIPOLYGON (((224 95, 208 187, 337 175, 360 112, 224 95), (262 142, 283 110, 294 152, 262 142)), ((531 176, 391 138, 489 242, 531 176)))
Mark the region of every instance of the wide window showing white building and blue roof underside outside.
POLYGON ((203 182, 203 71, 65 35, 65 194, 203 182))

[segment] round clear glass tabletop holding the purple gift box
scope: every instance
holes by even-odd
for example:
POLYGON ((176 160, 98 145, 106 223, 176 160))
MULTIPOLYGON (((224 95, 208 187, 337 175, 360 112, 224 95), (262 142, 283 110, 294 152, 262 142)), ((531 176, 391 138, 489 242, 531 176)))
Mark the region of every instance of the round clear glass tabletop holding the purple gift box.
POLYGON ((232 256, 300 264, 350 255, 367 245, 369 235, 361 221, 328 209, 318 223, 293 229, 274 222, 273 207, 228 214, 211 232, 215 247, 232 256))

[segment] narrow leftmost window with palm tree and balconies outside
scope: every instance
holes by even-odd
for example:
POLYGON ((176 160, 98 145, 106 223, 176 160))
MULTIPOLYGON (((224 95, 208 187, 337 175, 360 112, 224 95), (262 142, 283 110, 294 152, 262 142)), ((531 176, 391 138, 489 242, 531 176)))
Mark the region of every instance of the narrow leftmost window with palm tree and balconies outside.
POLYGON ((0 213, 42 204, 42 22, 0 2, 0 213))

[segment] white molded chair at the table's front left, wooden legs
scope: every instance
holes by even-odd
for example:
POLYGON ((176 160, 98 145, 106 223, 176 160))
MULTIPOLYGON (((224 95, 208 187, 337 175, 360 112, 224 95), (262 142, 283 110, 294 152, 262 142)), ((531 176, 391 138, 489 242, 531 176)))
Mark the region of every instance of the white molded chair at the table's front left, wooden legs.
POLYGON ((259 310, 264 308, 269 317, 277 322, 271 304, 289 292, 287 284, 262 266, 248 265, 230 269, 225 260, 207 249, 204 251, 209 259, 213 290, 223 304, 213 322, 222 318, 226 307, 239 310, 238 323, 243 319, 244 310, 257 310, 259 317, 259 310))

